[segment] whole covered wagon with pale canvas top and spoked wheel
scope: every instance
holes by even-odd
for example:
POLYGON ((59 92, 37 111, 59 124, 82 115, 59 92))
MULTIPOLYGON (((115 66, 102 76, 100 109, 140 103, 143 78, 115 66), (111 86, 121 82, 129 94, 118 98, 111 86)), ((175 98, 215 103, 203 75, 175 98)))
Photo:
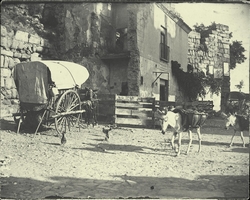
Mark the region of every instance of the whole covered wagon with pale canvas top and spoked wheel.
POLYGON ((36 128, 35 133, 42 123, 54 123, 59 134, 79 123, 84 110, 78 89, 89 78, 84 66, 54 60, 23 62, 15 65, 13 77, 20 101, 20 112, 13 114, 17 132, 21 122, 36 128))

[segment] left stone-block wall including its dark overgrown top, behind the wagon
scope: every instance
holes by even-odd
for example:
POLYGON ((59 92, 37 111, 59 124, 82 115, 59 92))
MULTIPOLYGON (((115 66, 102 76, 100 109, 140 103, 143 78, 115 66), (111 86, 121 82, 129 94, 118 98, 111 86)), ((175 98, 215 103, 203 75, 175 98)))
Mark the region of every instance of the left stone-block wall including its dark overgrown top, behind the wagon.
POLYGON ((40 22, 43 4, 2 4, 1 117, 17 112, 19 100, 12 78, 15 64, 51 57, 48 31, 40 22))

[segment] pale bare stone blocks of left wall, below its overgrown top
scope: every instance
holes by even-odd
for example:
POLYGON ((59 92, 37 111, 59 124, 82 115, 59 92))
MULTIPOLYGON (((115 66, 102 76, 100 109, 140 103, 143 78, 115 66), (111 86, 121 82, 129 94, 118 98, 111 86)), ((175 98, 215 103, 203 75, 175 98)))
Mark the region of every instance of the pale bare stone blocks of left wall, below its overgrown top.
POLYGON ((47 39, 24 31, 14 31, 1 25, 1 115, 15 112, 18 92, 12 77, 15 64, 41 60, 49 53, 47 39))

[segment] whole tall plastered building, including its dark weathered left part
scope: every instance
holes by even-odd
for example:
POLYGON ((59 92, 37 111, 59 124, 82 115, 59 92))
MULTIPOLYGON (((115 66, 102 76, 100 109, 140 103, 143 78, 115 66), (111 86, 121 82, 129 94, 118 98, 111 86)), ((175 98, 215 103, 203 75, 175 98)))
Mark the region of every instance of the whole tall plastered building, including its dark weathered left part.
POLYGON ((54 16, 60 33, 53 46, 60 59, 89 69, 87 85, 102 93, 164 101, 185 98, 170 65, 171 60, 177 61, 186 70, 191 29, 163 4, 62 5, 61 9, 50 6, 47 12, 54 16))

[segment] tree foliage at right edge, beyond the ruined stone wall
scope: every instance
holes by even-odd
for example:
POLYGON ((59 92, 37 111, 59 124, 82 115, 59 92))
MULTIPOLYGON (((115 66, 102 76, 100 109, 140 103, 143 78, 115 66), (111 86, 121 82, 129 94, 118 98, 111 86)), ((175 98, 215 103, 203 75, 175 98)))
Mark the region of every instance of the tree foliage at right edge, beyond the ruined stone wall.
POLYGON ((242 42, 233 41, 230 44, 230 69, 234 69, 236 67, 236 63, 241 64, 246 60, 245 48, 242 46, 242 42))

